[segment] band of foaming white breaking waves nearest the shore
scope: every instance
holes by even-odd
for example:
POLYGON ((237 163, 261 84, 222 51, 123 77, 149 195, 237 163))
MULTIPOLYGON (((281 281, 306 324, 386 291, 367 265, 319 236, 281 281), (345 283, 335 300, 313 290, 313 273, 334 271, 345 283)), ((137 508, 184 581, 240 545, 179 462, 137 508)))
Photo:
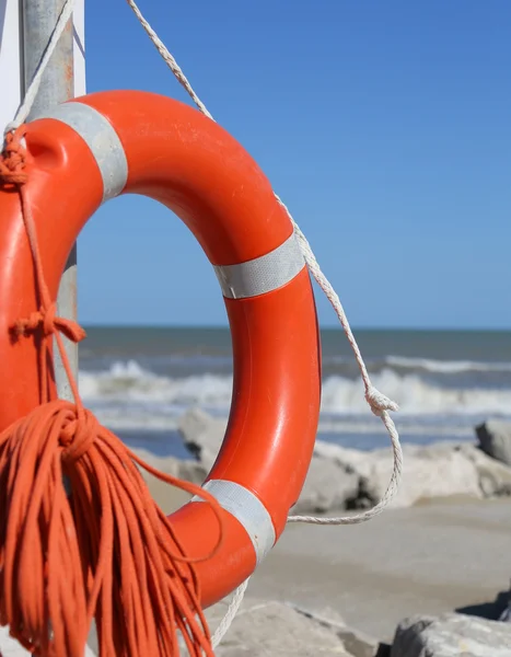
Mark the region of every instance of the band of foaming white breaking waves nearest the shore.
MULTIPOLYGON (((422 379, 416 372, 399 373, 384 368, 372 377, 387 396, 399 404, 400 415, 507 414, 511 410, 510 387, 446 387, 422 379)), ((100 372, 81 371, 80 391, 88 404, 178 412, 189 406, 225 412, 231 404, 232 377, 197 374, 172 378, 143 369, 137 361, 116 362, 100 372)), ((329 376, 323 381, 323 413, 365 414, 360 379, 329 376)))

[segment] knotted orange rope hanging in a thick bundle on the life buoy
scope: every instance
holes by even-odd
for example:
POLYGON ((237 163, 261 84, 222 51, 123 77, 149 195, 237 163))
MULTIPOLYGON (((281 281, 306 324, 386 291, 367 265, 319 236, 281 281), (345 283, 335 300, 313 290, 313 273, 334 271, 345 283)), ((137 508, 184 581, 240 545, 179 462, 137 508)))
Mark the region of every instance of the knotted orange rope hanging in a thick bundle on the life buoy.
POLYGON ((0 434, 0 623, 40 657, 83 657, 93 618, 102 657, 176 656, 177 630, 190 655, 211 657, 194 569, 202 558, 186 556, 137 464, 210 503, 220 527, 213 552, 222 540, 220 506, 141 461, 84 408, 60 333, 79 342, 85 332, 56 316, 45 281, 24 187, 24 135, 21 127, 7 137, 0 187, 19 189, 34 260, 40 308, 12 330, 42 338, 40 405, 0 434), (50 399, 54 335, 74 404, 50 399))

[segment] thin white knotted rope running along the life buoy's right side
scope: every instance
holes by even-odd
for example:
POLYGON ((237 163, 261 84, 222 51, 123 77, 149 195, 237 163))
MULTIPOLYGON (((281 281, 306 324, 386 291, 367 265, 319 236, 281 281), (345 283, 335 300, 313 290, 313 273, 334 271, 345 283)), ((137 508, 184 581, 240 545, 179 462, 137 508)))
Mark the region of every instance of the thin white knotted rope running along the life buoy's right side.
MULTIPOLYGON (((209 113, 208 108, 206 107, 206 105, 202 103, 202 101, 199 99, 197 93, 194 91, 194 89, 193 89, 191 84, 189 83, 188 79, 186 78, 185 73, 183 72, 181 67, 177 65, 177 61, 171 55, 171 53, 166 48, 165 44, 160 39, 158 34, 154 32, 154 30, 151 27, 151 25, 148 23, 148 21, 143 18, 143 15, 142 15, 140 9, 137 7, 135 0, 126 0, 126 1, 130 5, 130 8, 133 10, 135 15, 140 21, 140 23, 141 23, 142 27, 144 28, 144 31, 147 32, 149 38, 152 41, 152 43, 156 47, 156 49, 160 53, 160 55, 162 56, 163 60, 169 65, 170 69, 176 77, 179 84, 182 84, 185 88, 185 90, 188 92, 189 96, 191 97, 194 103, 197 105, 197 107, 200 110, 200 112, 202 114, 205 114, 211 120, 214 120, 212 115, 209 113)), ((340 516, 337 518, 325 518, 325 517, 317 517, 317 516, 289 516, 288 522, 306 522, 306 523, 311 523, 311 525, 357 525, 359 522, 365 522, 367 520, 370 520, 371 518, 374 518, 374 516, 378 516, 379 514, 381 514, 384 510, 384 508, 386 506, 388 506, 390 502, 396 494, 398 486, 399 486, 400 476, 402 476, 402 472, 403 472, 403 451, 402 451, 400 443, 399 443, 399 435, 395 427, 394 420, 392 419, 391 415, 388 414, 388 411, 398 411, 398 406, 395 402, 393 402, 387 396, 385 396, 383 393, 381 393, 379 390, 376 390, 376 388, 374 388, 374 385, 371 383, 368 368, 365 367, 365 364, 362 358, 362 354, 360 353, 357 341, 355 339, 353 333, 352 333, 351 327, 348 322, 348 318, 346 316, 345 310, 342 308, 342 304, 340 303, 340 299, 339 299, 337 292, 334 290, 329 280, 323 274, 323 272, 316 261, 316 257, 311 249, 311 245, 309 244, 305 235, 300 230, 300 227, 297 224, 297 222, 292 218, 291 212, 289 211, 287 206, 282 203, 282 200, 279 198, 279 196, 277 196, 277 194, 275 196, 276 196, 278 203, 286 210, 289 219, 291 220, 291 222, 293 224, 294 233, 300 242, 302 253, 305 258, 309 270, 314 276, 316 283, 318 284, 321 289, 326 295, 328 301, 330 302, 332 307, 334 308, 334 310, 339 319, 339 322, 344 328, 346 337, 348 338, 348 342, 351 345, 351 348, 355 354, 355 358, 357 360, 357 364, 360 369, 360 373, 362 376, 362 382, 363 382, 364 390, 365 390, 365 401, 368 402, 368 404, 369 404, 371 411, 374 413, 374 415, 378 415, 379 417, 381 417, 383 424, 385 425, 385 428, 391 438, 391 443, 392 443, 392 449, 393 449, 393 454, 394 454, 394 465, 393 465, 391 480, 388 482, 388 486, 387 486, 382 499, 373 508, 368 509, 367 511, 363 511, 362 514, 357 514, 355 516, 340 516)), ((217 631, 214 632, 213 639, 212 639, 213 647, 219 645, 219 643, 222 641, 223 636, 228 632, 229 627, 231 626, 231 623, 234 620, 234 616, 236 615, 237 610, 240 609, 240 606, 242 603, 243 596, 245 595, 247 585, 248 585, 248 579, 246 581, 244 581, 243 584, 241 584, 239 586, 239 588, 235 590, 234 596, 231 600, 231 603, 229 604, 228 611, 227 611, 223 620, 221 621, 220 625, 218 626, 217 631)))

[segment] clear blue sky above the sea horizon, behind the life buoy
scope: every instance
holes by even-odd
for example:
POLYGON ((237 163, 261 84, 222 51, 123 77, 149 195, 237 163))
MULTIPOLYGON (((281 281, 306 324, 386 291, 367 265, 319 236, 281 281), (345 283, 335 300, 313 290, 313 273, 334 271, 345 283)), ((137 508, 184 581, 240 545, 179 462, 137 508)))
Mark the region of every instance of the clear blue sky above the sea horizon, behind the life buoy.
MULTIPOLYGON (((355 326, 511 327, 509 0, 139 5, 288 204, 355 326)), ((189 102, 123 0, 86 11, 90 92, 189 102)), ((149 199, 89 222, 79 286, 84 323, 225 323, 201 250, 149 199)))

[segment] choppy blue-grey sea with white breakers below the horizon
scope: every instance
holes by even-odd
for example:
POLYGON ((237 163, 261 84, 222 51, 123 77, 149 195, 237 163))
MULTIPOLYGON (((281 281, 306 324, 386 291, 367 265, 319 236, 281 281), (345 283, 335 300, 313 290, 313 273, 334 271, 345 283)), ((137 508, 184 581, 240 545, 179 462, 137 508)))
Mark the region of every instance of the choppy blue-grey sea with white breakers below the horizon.
MULTIPOLYGON (((187 456, 177 426, 188 408, 227 417, 229 328, 88 327, 80 391, 130 447, 187 456)), ((488 418, 511 419, 511 332, 356 331, 373 384, 399 404, 403 442, 472 441, 488 418)), ((388 445, 340 330, 322 332, 318 438, 370 450, 388 445)))

